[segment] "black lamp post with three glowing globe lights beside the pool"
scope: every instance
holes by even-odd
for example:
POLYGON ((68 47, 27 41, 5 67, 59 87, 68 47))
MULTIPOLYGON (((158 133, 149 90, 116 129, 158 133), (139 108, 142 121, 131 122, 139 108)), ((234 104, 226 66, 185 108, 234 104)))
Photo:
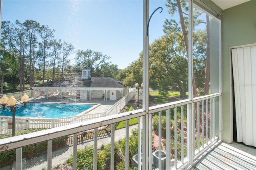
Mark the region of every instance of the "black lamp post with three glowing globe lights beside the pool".
MULTIPOLYGON (((23 102, 23 106, 26 108, 26 103, 28 102, 29 97, 26 93, 23 94, 23 96, 20 98, 20 100, 23 102)), ((4 94, 2 98, 0 98, 0 103, 3 106, 3 110, 5 110, 6 104, 10 107, 10 111, 12 112, 12 136, 15 136, 15 112, 16 112, 16 104, 17 100, 11 96, 10 99, 4 94)))

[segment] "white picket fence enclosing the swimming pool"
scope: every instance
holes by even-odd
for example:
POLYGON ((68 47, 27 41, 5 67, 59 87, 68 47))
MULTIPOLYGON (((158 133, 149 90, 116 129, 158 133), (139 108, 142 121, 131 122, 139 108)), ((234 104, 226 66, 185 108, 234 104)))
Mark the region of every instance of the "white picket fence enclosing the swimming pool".
MULTIPOLYGON (((25 92, 23 92, 25 93, 25 92)), ((11 95, 23 95, 23 93, 11 93, 6 96, 11 95)), ((33 96, 40 96, 44 94, 44 90, 33 90, 32 92, 26 92, 32 94, 33 96)), ((74 124, 78 122, 83 122, 86 120, 93 120, 96 118, 101 118, 105 116, 115 115, 122 111, 124 106, 128 104, 130 100, 134 98, 135 94, 130 93, 116 102, 105 112, 95 113, 95 114, 83 114, 72 117, 65 118, 23 118, 15 117, 15 131, 24 130, 28 128, 55 128, 60 126, 65 126, 68 124, 74 124)), ((12 134, 12 117, 10 116, 0 116, 0 135, 12 134)))

